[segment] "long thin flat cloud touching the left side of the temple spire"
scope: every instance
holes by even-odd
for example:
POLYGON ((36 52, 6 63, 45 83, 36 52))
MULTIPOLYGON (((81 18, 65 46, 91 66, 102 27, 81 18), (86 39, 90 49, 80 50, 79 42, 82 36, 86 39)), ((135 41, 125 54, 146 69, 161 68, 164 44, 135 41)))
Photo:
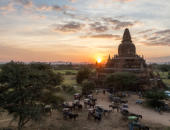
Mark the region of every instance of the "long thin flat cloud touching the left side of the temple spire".
POLYGON ((95 34, 95 35, 86 35, 86 36, 81 36, 81 38, 114 38, 116 40, 120 40, 121 36, 120 35, 112 35, 112 34, 95 34))

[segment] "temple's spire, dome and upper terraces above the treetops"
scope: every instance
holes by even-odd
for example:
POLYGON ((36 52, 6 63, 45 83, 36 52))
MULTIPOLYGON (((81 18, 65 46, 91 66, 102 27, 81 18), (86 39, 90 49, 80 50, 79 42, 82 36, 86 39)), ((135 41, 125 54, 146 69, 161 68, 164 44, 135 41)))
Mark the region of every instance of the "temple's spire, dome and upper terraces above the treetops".
POLYGON ((134 72, 141 73, 146 70, 147 66, 143 57, 136 54, 136 47, 131 40, 128 29, 125 29, 122 42, 118 47, 118 55, 113 58, 108 57, 104 68, 105 72, 134 72))

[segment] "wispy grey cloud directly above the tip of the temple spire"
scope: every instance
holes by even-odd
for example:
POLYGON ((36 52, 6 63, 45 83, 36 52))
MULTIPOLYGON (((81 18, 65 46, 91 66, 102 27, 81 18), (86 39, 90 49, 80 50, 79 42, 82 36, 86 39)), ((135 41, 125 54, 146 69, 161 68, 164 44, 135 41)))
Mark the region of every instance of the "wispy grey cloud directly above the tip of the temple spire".
POLYGON ((104 18, 104 21, 109 23, 109 24, 114 25, 113 29, 116 29, 116 30, 126 28, 126 27, 132 27, 132 26, 136 25, 137 23, 139 23, 137 21, 134 21, 134 22, 120 21, 120 20, 112 19, 112 18, 104 18))

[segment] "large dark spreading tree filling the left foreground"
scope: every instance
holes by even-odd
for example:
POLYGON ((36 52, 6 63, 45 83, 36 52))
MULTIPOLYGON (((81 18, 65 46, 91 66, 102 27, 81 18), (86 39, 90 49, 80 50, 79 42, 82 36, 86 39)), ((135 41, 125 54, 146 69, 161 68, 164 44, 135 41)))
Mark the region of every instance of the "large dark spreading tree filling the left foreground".
POLYGON ((7 63, 0 72, 0 107, 18 120, 18 130, 21 130, 30 120, 41 119, 47 104, 43 97, 46 97, 47 91, 59 85, 62 79, 61 75, 51 70, 50 65, 7 63))

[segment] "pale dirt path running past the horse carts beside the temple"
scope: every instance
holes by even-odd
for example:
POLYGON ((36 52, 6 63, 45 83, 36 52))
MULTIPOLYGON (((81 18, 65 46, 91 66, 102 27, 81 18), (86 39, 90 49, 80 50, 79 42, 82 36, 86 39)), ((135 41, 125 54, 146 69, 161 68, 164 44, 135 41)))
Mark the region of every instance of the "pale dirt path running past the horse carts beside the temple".
MULTIPOLYGON (((108 94, 99 94, 96 96, 98 101, 98 105, 102 105, 105 108, 108 108, 110 101, 108 100, 108 94)), ((136 114, 141 114, 143 116, 142 121, 143 122, 150 122, 153 124, 161 124, 165 126, 170 126, 170 113, 163 113, 159 114, 158 112, 145 108, 141 105, 138 105, 135 103, 135 101, 138 99, 136 95, 131 95, 128 98, 128 105, 129 105, 129 111, 136 113, 136 114)))

